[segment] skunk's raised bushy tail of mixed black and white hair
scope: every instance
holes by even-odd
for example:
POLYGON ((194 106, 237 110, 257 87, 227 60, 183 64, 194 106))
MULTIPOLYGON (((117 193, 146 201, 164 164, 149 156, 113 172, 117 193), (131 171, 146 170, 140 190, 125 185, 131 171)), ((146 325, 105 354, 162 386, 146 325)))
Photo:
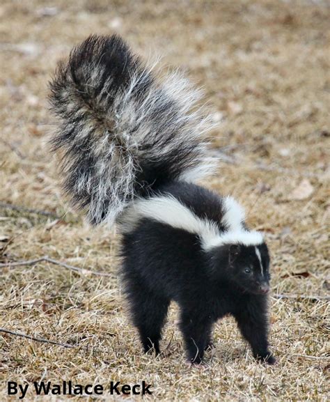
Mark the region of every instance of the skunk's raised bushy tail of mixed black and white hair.
POLYGON ((112 224, 136 196, 168 180, 195 180, 212 165, 199 91, 178 72, 157 82, 118 36, 75 47, 50 88, 63 187, 92 224, 112 224))

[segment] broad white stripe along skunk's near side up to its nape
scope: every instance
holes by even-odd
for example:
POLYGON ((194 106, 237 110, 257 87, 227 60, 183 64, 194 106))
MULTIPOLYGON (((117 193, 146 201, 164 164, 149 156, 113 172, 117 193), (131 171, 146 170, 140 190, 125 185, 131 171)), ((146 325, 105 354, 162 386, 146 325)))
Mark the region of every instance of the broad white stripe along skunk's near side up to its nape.
MULTIPOLYGON (((237 204, 237 203, 236 203, 237 204)), ((233 203, 231 204, 233 205, 233 203)), ((238 204, 237 204, 238 205, 238 204)), ((240 209, 242 211, 242 209, 240 209)), ((236 215, 237 217, 237 215, 236 215)), ((242 222, 239 215, 239 222, 242 222)), ((135 229, 139 220, 148 218, 168 224, 173 228, 183 229, 194 233, 201 238, 202 247, 209 250, 212 247, 221 245, 237 244, 250 246, 260 245, 263 242, 262 234, 256 231, 246 231, 238 221, 232 225, 237 227, 236 231, 228 230, 224 233, 219 231, 215 222, 198 217, 187 206, 184 206, 178 199, 171 195, 153 196, 150 199, 139 199, 129 206, 120 219, 120 229, 125 233, 135 229)))

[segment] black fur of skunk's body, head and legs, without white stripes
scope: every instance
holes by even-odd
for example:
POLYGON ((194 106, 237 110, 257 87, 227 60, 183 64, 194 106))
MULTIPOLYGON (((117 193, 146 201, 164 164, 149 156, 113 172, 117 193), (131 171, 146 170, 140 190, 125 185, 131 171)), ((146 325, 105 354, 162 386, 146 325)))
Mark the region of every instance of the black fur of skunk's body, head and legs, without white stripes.
MULTIPOLYGON (((189 202, 197 213, 201 206, 205 213, 210 208, 211 215, 221 211, 221 199, 196 185, 171 183, 162 192, 189 202)), ((255 246, 223 245, 205 252, 197 235, 152 219, 143 219, 134 231, 125 233, 123 279, 144 350, 155 348, 159 353, 168 305, 174 300, 180 306, 180 329, 191 362, 201 362, 214 322, 231 314, 254 357, 273 364, 267 341, 267 295, 262 293, 269 286, 269 253, 265 243, 258 249, 267 270, 264 278, 255 246)))

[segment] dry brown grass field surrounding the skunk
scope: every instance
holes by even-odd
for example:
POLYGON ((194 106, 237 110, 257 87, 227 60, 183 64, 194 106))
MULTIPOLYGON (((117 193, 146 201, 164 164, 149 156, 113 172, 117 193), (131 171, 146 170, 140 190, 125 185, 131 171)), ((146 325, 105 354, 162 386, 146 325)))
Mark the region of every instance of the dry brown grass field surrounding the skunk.
MULTIPOLYGON (((1 1, 0 327, 74 346, 0 332, 1 401, 18 400, 8 380, 102 384, 97 401, 141 399, 109 396, 111 380, 146 380, 155 401, 327 401, 329 21, 327 0, 1 1), (174 305, 164 353, 143 355, 116 275, 116 233, 89 228, 61 194, 47 82, 74 44, 113 32, 205 89, 221 156, 205 185, 237 197, 272 251, 275 366, 253 360, 231 318, 215 327, 205 366, 187 366, 174 305), (42 256, 81 270, 8 265, 42 256)), ((81 399, 93 398, 70 400, 81 399)), ((24 398, 66 400, 32 385, 24 398)))

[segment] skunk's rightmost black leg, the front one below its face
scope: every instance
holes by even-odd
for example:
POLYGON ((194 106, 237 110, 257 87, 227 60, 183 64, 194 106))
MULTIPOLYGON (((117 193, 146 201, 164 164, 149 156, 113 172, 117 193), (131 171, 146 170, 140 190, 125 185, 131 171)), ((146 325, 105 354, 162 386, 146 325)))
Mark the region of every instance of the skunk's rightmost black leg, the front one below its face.
POLYGON ((262 362, 274 364, 275 357, 268 349, 267 299, 253 296, 240 304, 234 314, 243 337, 251 345, 253 356, 262 362))

